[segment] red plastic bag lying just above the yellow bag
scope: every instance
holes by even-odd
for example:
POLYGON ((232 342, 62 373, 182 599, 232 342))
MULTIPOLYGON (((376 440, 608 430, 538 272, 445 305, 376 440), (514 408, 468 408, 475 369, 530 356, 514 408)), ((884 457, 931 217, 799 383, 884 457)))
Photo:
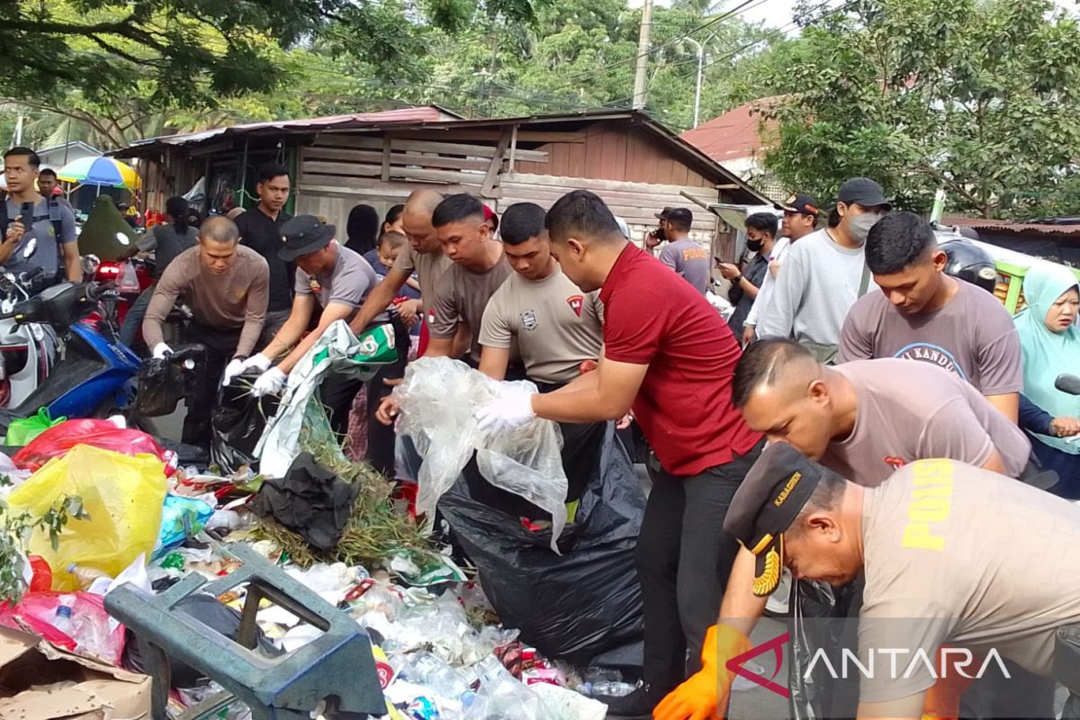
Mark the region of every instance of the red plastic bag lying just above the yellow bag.
POLYGON ((12 461, 17 467, 37 472, 76 445, 92 445, 126 456, 151 454, 165 463, 166 475, 176 470, 175 453, 162 449, 150 435, 140 430, 117 427, 111 420, 93 418, 67 420, 50 427, 16 452, 12 461))

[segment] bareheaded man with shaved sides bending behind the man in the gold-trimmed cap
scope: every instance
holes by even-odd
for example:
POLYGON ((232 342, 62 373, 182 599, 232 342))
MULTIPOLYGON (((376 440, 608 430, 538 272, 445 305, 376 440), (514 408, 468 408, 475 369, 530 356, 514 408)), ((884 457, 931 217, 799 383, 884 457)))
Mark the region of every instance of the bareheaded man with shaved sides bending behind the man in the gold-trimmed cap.
MULTIPOLYGON (((771 443, 789 444, 867 487, 888 485, 896 468, 926 458, 1018 477, 1030 453, 1023 431, 957 376, 893 358, 827 367, 792 340, 764 340, 746 350, 732 380, 732 404, 771 443)), ((727 657, 742 652, 765 610, 765 599, 750 592, 747 556, 739 552, 720 608, 721 625, 742 634, 717 630, 716 647, 727 657)), ((723 707, 731 678, 720 671, 723 707)), ((716 707, 718 701, 699 694, 699 702, 716 707)), ((693 716, 673 710, 661 717, 693 716)))

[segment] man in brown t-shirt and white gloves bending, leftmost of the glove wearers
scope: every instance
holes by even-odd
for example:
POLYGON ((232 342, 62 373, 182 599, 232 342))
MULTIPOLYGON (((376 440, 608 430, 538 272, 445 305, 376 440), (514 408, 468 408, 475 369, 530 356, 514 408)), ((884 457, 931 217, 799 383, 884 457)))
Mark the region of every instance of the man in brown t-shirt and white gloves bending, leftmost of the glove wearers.
POLYGON ((184 341, 206 348, 206 366, 187 399, 183 440, 205 447, 218 382, 231 381, 255 349, 266 318, 270 271, 255 250, 240 244, 232 220, 211 218, 199 229, 199 243, 168 263, 143 320, 143 337, 154 357, 172 352, 162 324, 181 295, 194 316, 184 341))

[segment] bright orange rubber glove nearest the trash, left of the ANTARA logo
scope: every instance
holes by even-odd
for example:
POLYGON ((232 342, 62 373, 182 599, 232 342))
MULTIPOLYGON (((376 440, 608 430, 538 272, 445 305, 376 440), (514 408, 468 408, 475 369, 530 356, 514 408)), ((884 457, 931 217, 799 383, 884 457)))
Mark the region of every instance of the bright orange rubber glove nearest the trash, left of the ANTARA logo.
POLYGON ((710 627, 701 647, 701 670, 660 701, 652 711, 653 720, 723 718, 734 680, 727 662, 750 649, 750 639, 730 625, 717 623, 710 627))

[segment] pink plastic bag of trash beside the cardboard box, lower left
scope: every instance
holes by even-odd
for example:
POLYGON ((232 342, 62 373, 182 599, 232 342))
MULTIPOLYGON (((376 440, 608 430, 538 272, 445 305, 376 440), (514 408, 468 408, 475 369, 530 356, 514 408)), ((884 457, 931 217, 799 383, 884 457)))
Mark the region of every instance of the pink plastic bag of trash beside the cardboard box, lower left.
POLYGON ((14 608, 0 606, 0 625, 29 627, 57 648, 117 666, 124 650, 124 626, 105 612, 105 598, 92 593, 28 593, 14 608), (70 613, 57 612, 62 603, 70 613))

